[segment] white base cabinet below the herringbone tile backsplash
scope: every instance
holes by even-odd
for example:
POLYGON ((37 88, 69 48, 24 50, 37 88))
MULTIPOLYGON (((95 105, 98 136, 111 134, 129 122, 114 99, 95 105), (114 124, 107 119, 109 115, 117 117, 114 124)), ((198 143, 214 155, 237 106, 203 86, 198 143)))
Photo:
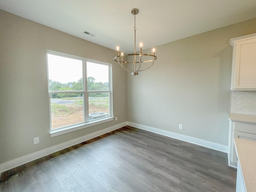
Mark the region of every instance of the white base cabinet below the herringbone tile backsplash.
POLYGON ((228 165, 237 166, 234 138, 256 141, 256 124, 238 121, 230 121, 230 138, 228 144, 228 165))

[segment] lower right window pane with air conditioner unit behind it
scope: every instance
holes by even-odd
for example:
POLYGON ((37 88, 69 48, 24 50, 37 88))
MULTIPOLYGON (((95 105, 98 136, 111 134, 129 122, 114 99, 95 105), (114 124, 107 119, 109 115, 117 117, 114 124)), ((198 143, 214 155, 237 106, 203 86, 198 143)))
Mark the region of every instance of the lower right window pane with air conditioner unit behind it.
POLYGON ((109 93, 89 93, 89 121, 109 116, 109 93))

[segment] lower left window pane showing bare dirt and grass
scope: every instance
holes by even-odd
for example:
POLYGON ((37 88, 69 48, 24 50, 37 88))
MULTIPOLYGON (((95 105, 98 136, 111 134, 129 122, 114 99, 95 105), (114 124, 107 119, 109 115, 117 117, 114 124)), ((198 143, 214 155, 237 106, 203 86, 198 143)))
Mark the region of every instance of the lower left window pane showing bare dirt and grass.
POLYGON ((84 122, 83 94, 50 94, 52 129, 84 122))

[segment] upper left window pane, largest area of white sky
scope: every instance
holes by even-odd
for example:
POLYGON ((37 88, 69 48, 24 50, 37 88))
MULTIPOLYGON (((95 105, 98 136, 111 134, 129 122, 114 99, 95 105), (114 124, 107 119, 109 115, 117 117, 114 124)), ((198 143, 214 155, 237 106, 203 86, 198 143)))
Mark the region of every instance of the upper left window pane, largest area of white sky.
POLYGON ((82 60, 47 54, 49 90, 83 90, 82 60))

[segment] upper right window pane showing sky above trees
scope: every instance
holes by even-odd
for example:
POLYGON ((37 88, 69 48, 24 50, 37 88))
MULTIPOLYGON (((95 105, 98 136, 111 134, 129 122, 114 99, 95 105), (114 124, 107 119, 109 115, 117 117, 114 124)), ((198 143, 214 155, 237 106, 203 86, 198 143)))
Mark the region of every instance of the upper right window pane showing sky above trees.
POLYGON ((87 62, 87 89, 109 90, 108 66, 87 62))

